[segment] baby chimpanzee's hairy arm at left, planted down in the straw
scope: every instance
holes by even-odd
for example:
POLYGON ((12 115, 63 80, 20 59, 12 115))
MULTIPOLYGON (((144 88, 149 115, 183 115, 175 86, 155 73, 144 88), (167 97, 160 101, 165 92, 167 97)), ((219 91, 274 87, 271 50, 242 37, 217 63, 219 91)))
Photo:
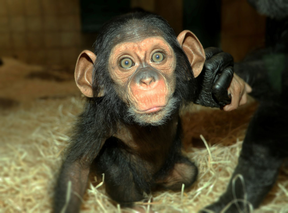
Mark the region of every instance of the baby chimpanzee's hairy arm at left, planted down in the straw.
POLYGON ((55 213, 79 212, 81 198, 88 183, 90 165, 105 143, 106 132, 99 120, 85 113, 78 120, 55 188, 55 213))

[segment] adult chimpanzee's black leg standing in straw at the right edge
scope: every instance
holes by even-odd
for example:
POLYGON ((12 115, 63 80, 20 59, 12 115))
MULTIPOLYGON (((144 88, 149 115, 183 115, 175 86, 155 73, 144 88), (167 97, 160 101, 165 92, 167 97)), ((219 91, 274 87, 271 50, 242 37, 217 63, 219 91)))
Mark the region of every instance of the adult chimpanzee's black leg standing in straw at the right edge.
POLYGON ((288 156, 287 119, 287 107, 275 102, 260 104, 226 192, 206 209, 249 212, 248 203, 254 208, 259 206, 275 183, 283 158, 288 156))

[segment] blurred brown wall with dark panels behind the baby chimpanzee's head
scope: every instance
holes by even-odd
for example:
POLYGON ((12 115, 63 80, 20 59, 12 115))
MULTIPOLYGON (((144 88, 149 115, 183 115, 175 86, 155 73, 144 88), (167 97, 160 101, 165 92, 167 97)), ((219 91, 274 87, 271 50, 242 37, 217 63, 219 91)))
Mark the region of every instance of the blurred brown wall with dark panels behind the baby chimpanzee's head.
POLYGON ((246 0, 0 0, 0 57, 73 67, 106 20, 133 8, 163 16, 176 34, 193 31, 204 48, 221 47, 235 61, 265 42, 265 17, 246 0))

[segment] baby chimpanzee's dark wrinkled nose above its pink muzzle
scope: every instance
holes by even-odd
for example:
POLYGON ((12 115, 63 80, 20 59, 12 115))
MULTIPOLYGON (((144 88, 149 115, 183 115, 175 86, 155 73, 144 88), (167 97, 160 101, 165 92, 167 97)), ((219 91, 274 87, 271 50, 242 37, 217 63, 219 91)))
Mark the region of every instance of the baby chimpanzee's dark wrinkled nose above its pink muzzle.
POLYGON ((150 86, 154 82, 159 80, 159 74, 157 71, 155 71, 153 68, 142 68, 137 72, 137 74, 134 76, 134 83, 138 85, 145 85, 150 86))

